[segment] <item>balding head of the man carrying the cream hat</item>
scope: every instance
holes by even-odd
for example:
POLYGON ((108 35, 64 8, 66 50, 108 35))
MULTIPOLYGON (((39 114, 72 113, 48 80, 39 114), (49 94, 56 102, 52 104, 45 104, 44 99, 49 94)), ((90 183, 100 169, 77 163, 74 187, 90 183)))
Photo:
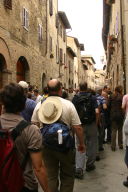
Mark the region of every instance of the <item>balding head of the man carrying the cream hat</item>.
POLYGON ((60 81, 57 79, 52 79, 48 82, 48 92, 51 96, 61 96, 62 95, 62 86, 60 81))

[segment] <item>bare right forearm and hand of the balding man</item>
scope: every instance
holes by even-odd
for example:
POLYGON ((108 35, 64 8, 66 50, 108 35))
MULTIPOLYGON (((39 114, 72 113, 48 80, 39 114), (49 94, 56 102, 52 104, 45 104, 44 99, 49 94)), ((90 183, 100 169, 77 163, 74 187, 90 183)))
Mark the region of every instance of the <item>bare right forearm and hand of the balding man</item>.
POLYGON ((76 133, 76 136, 79 141, 78 145, 78 151, 81 153, 85 152, 85 144, 84 144, 84 133, 83 133, 83 128, 81 125, 73 125, 74 132, 76 133))

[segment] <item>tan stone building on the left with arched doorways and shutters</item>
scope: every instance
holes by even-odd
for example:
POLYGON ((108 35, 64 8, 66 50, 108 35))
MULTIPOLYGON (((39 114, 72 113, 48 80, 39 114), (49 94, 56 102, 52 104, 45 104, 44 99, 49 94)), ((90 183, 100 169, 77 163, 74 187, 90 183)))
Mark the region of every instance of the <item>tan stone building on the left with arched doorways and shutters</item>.
POLYGON ((25 80, 40 90, 49 79, 65 84, 66 29, 58 0, 0 2, 0 88, 25 80))

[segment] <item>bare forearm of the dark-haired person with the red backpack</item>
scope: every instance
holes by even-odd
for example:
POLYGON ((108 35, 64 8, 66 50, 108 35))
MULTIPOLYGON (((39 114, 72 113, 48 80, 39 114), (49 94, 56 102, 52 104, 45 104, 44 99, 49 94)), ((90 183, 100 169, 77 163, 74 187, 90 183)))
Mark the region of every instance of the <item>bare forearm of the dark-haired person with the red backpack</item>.
POLYGON ((46 169, 44 166, 44 162, 42 160, 42 153, 33 152, 33 153, 30 153, 30 157, 32 160, 34 173, 35 173, 42 189, 44 190, 44 192, 50 192, 50 190, 48 189, 47 173, 46 173, 46 169))

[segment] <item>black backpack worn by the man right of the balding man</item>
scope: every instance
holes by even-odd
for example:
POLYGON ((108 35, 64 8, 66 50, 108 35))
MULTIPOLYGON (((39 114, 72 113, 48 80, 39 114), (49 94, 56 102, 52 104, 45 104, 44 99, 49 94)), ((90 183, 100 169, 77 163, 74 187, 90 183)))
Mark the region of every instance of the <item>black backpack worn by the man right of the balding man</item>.
POLYGON ((82 124, 91 124, 95 121, 95 107, 91 93, 77 94, 73 100, 82 124))

